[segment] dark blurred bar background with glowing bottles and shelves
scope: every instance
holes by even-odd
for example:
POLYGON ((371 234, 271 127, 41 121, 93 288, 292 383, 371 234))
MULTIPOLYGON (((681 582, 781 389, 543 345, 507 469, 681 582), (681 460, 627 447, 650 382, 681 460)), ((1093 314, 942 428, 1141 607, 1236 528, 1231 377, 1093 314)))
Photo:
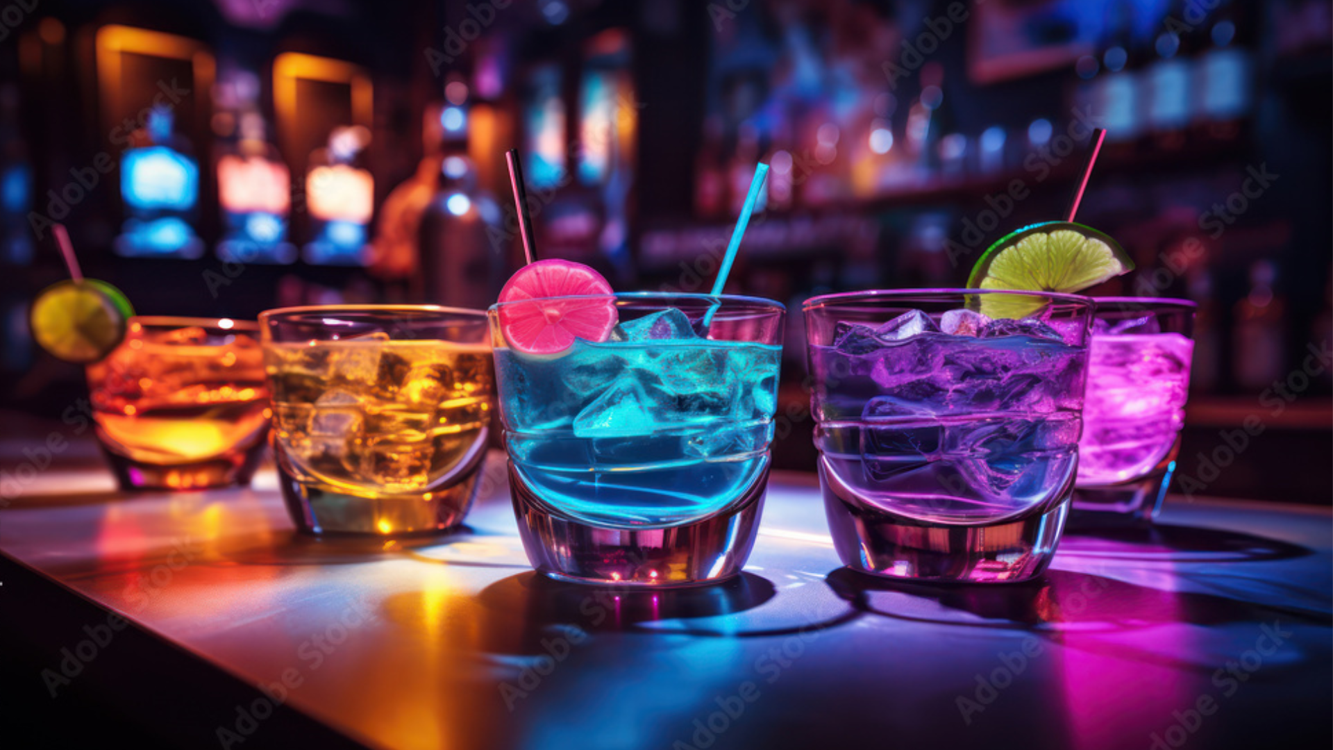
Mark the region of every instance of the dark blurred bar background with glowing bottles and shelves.
POLYGON ((790 308, 813 470, 802 300, 961 286, 1105 127, 1078 219, 1137 270, 1093 294, 1198 303, 1177 490, 1328 504, 1330 41, 1328 0, 9 0, 0 408, 84 395, 28 331, 53 222, 140 314, 485 307, 517 147, 543 256, 702 291, 762 160, 728 291, 790 308))

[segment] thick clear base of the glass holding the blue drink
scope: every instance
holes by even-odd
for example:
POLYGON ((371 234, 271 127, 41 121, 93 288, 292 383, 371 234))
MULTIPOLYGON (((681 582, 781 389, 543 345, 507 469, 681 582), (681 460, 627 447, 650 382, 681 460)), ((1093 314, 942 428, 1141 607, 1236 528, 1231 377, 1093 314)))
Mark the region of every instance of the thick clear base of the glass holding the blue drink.
POLYGON ((741 498, 693 523, 612 528, 561 515, 523 483, 509 462, 509 492, 528 560, 559 581, 601 586, 676 587, 737 575, 749 559, 768 488, 768 468, 741 498))

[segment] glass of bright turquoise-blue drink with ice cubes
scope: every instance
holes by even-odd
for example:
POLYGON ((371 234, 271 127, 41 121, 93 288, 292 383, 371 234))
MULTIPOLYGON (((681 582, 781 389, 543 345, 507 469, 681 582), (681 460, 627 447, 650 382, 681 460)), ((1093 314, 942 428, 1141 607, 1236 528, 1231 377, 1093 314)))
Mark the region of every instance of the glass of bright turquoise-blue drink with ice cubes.
POLYGON ((491 307, 519 531, 535 569, 677 586, 740 573, 768 486, 785 308, 617 294, 611 340, 512 348, 491 307))

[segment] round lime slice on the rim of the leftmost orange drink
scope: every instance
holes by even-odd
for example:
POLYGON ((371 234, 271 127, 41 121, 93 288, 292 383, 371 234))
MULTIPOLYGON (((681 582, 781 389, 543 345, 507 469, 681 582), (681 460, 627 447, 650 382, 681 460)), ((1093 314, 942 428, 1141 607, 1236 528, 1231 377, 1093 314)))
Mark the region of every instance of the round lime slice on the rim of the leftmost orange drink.
POLYGON ((60 282, 37 295, 28 320, 41 348, 65 362, 88 364, 111 354, 135 314, 124 292, 107 282, 60 282))

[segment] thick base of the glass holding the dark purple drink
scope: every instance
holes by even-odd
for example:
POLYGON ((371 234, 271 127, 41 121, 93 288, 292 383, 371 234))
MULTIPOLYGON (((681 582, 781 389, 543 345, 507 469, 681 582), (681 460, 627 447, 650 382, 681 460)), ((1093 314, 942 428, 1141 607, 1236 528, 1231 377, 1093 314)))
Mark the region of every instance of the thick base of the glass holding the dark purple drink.
POLYGON ((1013 583, 1040 575, 1056 554, 1072 484, 1018 519, 924 523, 858 499, 820 459, 824 510, 842 565, 912 581, 1013 583))

